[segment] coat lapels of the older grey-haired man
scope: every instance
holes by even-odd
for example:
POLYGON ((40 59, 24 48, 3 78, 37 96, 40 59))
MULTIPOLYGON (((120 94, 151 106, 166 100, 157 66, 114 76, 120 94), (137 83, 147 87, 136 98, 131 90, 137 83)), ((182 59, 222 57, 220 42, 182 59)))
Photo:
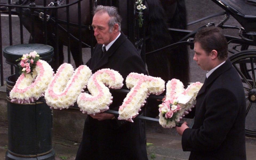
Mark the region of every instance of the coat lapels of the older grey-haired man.
MULTIPOLYGON (((121 31, 121 35, 117 38, 117 40, 113 43, 113 45, 107 50, 107 52, 103 55, 102 58, 97 57, 97 63, 94 67, 92 67, 92 71, 98 70, 102 66, 106 65, 108 63, 109 57, 117 50, 117 48, 125 41, 125 35, 121 31)), ((102 45, 101 46, 101 51, 102 51, 102 45)), ((99 55, 99 49, 96 51, 94 54, 99 55)), ((97 55, 97 56, 98 56, 97 55)))

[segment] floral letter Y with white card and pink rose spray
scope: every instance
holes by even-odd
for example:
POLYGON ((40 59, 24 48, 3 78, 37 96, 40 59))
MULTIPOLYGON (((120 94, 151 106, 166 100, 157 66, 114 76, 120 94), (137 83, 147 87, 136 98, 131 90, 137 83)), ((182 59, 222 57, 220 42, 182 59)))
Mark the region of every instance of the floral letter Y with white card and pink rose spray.
POLYGON ((159 123, 164 128, 175 127, 191 111, 196 103, 196 96, 202 83, 190 84, 185 90, 178 79, 171 79, 166 85, 166 99, 159 105, 159 123))

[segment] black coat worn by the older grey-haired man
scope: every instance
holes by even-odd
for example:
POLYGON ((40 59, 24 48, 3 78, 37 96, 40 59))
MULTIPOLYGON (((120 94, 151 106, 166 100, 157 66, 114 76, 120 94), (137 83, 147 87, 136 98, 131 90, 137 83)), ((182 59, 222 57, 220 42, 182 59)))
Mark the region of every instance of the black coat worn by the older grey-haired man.
MULTIPOLYGON (((146 74, 144 63, 133 44, 121 33, 101 58, 102 45, 97 44, 87 66, 95 73, 99 69, 110 68, 118 71, 125 79, 131 72, 146 74)), ((125 80, 123 82, 125 84, 125 80)), ((127 89, 123 86, 123 89, 127 89)), ((118 110, 125 94, 111 92, 111 110, 118 110)), ((116 117, 117 118, 117 117, 116 117)), ((90 116, 85 121, 83 138, 76 160, 118 160, 147 159, 146 142, 141 120, 134 123, 120 123, 120 120, 98 121, 90 116)))

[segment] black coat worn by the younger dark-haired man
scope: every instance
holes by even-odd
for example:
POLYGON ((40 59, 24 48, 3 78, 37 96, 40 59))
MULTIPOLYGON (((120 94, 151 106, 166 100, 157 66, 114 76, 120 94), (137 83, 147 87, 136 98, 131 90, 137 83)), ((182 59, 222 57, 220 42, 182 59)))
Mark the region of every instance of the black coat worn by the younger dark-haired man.
POLYGON ((229 59, 206 79, 196 99, 194 125, 182 135, 189 159, 246 159, 245 93, 229 59))

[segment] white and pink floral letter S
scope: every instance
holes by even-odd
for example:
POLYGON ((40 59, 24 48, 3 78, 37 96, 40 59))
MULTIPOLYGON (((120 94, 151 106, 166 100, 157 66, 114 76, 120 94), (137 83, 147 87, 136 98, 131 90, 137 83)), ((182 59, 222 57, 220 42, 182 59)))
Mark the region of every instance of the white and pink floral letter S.
POLYGON ((78 107, 83 113, 96 114, 109 109, 113 97, 105 85, 112 89, 122 88, 122 75, 111 69, 101 69, 95 72, 87 85, 91 95, 81 93, 77 99, 78 107))

